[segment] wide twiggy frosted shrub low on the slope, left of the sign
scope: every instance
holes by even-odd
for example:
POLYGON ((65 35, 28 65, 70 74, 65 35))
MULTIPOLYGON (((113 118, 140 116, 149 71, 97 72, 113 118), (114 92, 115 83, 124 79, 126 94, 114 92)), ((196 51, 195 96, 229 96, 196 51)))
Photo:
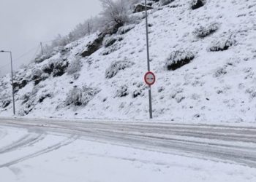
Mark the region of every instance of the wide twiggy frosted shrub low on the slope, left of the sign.
POLYGON ((65 104, 66 106, 86 106, 94 95, 97 95, 100 90, 83 86, 83 88, 74 87, 69 91, 65 104))

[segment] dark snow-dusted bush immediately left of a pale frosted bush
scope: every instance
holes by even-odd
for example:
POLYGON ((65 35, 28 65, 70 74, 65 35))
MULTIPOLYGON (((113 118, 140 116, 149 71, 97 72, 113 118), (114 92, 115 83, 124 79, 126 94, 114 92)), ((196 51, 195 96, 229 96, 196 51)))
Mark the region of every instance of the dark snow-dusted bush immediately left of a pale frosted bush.
POLYGON ((67 70, 68 66, 69 63, 67 63, 67 61, 61 59, 50 60, 48 64, 42 67, 42 71, 49 75, 53 74, 54 77, 62 76, 67 70))

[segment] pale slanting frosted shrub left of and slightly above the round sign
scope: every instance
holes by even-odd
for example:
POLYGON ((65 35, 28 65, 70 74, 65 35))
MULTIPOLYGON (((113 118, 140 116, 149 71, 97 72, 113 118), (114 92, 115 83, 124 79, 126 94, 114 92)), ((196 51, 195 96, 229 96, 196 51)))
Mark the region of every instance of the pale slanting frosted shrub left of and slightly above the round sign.
POLYGON ((118 71, 124 70, 125 68, 129 68, 133 66, 135 63, 132 61, 127 61, 127 60, 119 60, 119 61, 114 61, 111 63, 110 67, 106 70, 105 76, 107 79, 113 78, 113 76, 116 76, 118 74, 118 71))

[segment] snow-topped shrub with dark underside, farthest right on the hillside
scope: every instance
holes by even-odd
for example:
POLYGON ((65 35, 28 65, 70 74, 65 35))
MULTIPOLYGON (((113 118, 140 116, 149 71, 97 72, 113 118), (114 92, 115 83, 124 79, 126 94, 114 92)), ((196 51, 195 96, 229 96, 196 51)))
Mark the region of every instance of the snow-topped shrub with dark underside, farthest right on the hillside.
POLYGON ((211 42, 208 50, 211 52, 225 51, 228 50, 236 41, 230 36, 228 39, 222 38, 220 40, 214 40, 211 42))

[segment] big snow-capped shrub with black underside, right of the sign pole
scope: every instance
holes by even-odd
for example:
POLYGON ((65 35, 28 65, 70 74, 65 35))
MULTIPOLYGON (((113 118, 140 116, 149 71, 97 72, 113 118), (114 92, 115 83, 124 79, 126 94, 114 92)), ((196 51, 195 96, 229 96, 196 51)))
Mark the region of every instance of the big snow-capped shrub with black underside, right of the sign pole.
POLYGON ((165 66, 167 70, 175 71, 181 66, 184 66, 191 62, 195 58, 192 52, 185 50, 178 50, 171 52, 168 58, 165 60, 165 66))

